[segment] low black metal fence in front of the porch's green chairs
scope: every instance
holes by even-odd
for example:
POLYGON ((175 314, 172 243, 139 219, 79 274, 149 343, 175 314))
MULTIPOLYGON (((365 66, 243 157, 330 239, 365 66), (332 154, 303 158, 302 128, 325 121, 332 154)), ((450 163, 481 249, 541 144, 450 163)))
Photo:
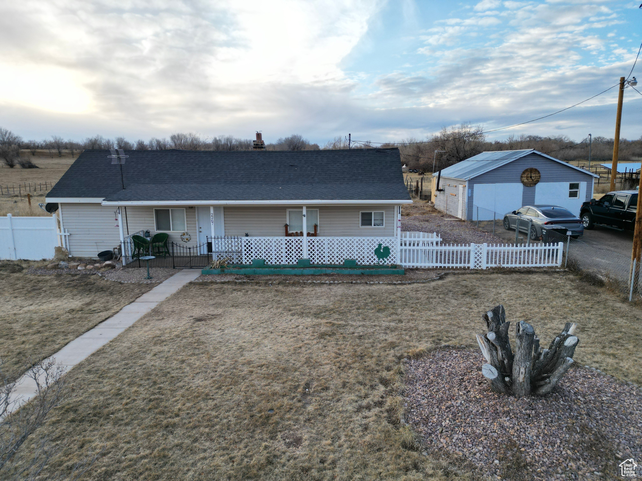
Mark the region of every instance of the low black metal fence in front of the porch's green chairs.
POLYGON ((128 239, 123 253, 124 267, 147 267, 148 261, 141 257, 148 255, 155 257, 149 261, 150 267, 165 269, 204 269, 218 259, 227 259, 227 264, 241 264, 243 241, 241 237, 207 237, 207 242, 197 246, 169 242, 164 249, 158 245, 142 248, 128 239))

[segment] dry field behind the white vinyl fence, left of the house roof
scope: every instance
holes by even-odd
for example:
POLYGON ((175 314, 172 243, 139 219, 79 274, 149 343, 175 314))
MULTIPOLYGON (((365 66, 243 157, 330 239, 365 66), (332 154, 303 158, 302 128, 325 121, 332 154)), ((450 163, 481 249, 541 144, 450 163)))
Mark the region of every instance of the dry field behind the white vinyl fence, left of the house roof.
POLYGON ((51 189, 51 184, 60 180, 69 165, 73 164, 74 160, 78 157, 78 151, 74 152, 72 158, 69 151, 63 151, 62 157, 58 157, 54 153, 53 158, 46 150, 36 151, 35 156, 31 156, 28 150, 22 150, 20 153, 22 158, 31 158, 31 161, 40 167, 39 169, 22 169, 20 165, 13 168, 0 164, 0 185, 2 185, 3 194, 0 195, 0 215, 12 214, 15 216, 41 216, 51 215, 38 207, 39 203, 44 202, 47 194, 45 190, 45 182, 51 189), (24 183, 27 184, 25 191, 24 183), (30 192, 28 186, 31 183, 31 208, 29 208, 26 194, 30 192), (18 184, 22 184, 22 189, 19 189, 18 184), (36 192, 33 192, 34 185, 36 192), (10 192, 6 194, 7 188, 10 192), (42 189, 42 190, 40 190, 42 189), (15 191, 15 195, 13 192, 15 191), (20 195, 22 192, 22 196, 20 195))

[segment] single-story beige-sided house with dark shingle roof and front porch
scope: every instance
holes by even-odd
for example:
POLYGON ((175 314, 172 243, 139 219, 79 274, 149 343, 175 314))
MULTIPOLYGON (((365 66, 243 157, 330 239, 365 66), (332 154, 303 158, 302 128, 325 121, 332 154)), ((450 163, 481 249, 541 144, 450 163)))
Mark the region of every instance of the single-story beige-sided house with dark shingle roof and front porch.
POLYGON ((374 263, 412 203, 398 149, 85 150, 46 200, 70 256, 96 258, 149 231, 204 254, 255 238, 250 258, 270 264, 374 263))

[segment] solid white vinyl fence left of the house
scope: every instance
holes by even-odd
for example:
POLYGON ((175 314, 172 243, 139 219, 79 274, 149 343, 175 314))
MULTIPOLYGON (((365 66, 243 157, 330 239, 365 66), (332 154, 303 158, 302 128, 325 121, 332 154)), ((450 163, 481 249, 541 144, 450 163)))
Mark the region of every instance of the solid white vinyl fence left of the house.
POLYGON ((51 217, 0 217, 0 259, 50 259, 58 246, 58 226, 51 217))

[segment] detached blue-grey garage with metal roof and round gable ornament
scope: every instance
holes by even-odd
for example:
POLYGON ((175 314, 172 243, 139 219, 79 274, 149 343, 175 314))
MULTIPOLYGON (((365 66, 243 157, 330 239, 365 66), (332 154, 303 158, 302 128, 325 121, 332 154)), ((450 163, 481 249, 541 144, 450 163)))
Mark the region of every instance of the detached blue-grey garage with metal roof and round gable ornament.
POLYGON ((503 150, 451 165, 440 177, 433 174, 432 191, 438 210, 471 221, 501 219, 536 204, 559 205, 579 215, 597 177, 534 149, 503 150))

